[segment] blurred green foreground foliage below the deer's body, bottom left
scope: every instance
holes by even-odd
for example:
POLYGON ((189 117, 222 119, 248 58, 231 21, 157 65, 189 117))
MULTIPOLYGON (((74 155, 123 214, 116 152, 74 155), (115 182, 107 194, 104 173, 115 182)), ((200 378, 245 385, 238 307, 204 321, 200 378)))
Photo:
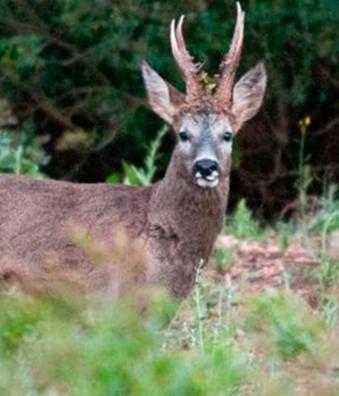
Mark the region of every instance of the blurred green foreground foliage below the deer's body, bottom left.
POLYGON ((229 349, 162 352, 154 311, 142 318, 126 305, 112 312, 64 301, 60 308, 2 295, 0 312, 0 389, 7 394, 231 394, 246 378, 229 349))

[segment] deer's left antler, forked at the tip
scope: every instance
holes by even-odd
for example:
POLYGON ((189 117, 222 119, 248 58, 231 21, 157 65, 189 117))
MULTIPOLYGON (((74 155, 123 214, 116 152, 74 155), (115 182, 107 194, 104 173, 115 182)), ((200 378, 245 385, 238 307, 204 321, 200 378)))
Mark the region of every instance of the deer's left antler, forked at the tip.
POLYGON ((182 71, 186 83, 187 102, 199 99, 204 95, 204 87, 199 79, 200 64, 193 62, 193 57, 186 49, 185 40, 182 34, 182 24, 184 15, 179 19, 178 25, 175 27, 175 19, 171 22, 171 47, 173 56, 182 71))

